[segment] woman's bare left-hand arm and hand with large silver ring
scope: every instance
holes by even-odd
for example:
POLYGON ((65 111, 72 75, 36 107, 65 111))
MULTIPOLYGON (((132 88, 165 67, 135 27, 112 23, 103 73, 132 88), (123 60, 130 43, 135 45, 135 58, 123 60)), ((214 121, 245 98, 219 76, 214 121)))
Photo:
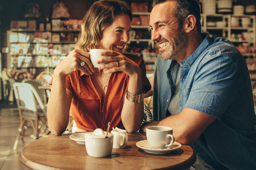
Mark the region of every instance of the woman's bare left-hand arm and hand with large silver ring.
POLYGON ((79 70, 86 75, 95 71, 89 60, 89 53, 82 50, 73 50, 55 68, 51 94, 47 104, 47 120, 51 132, 62 134, 68 125, 69 109, 73 93, 66 89, 66 76, 79 70), (82 67, 81 61, 86 64, 82 67))

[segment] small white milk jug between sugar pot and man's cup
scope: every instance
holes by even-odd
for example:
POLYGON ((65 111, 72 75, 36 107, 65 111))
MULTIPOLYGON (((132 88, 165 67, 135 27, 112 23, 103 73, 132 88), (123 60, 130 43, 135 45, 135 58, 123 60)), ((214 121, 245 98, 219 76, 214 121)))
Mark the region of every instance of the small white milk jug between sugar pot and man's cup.
POLYGON ((116 127, 113 128, 111 133, 114 135, 113 147, 117 149, 125 148, 128 141, 127 131, 116 127))

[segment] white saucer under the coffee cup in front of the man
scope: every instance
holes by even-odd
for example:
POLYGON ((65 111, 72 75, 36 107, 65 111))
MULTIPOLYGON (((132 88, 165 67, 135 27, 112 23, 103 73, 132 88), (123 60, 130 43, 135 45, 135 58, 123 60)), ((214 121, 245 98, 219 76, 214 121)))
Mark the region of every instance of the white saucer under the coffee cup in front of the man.
POLYGON ((136 143, 136 146, 144 150, 145 152, 151 153, 151 154, 167 154, 171 153, 174 150, 177 150, 178 148, 181 147, 181 144, 179 142, 175 142, 165 148, 165 149, 157 149, 157 148, 152 148, 148 142, 148 140, 141 140, 136 143))

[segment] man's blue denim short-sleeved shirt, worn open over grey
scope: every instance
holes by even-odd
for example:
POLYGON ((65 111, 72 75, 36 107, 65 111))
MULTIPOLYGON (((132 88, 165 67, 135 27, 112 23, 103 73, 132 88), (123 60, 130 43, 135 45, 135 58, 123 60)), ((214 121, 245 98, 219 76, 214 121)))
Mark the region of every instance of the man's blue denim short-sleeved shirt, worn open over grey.
MULTIPOLYGON (((214 169, 256 169, 255 113, 245 59, 229 40, 206 33, 203 38, 180 63, 180 111, 190 108, 216 120, 191 147, 214 169)), ((165 118, 175 90, 176 62, 157 57, 153 120, 165 118)))

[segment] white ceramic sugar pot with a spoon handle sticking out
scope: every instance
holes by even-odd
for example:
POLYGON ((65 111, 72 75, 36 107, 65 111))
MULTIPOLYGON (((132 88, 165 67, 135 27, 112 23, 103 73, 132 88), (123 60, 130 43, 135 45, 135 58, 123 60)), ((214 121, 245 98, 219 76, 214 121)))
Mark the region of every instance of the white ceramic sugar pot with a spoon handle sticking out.
POLYGON ((91 157, 109 156, 113 148, 113 134, 104 132, 103 135, 96 135, 93 132, 85 134, 85 147, 87 154, 91 157))

